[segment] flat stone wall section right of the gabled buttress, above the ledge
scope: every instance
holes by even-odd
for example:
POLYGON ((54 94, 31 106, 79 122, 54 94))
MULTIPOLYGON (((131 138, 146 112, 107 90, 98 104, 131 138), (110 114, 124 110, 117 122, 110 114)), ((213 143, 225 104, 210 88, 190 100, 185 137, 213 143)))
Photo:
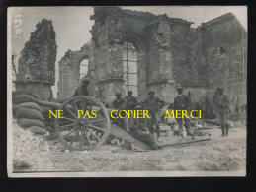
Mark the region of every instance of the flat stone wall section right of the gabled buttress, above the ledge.
POLYGON ((202 84, 199 67, 202 66, 201 38, 189 24, 173 23, 171 30, 173 77, 177 84, 202 84))

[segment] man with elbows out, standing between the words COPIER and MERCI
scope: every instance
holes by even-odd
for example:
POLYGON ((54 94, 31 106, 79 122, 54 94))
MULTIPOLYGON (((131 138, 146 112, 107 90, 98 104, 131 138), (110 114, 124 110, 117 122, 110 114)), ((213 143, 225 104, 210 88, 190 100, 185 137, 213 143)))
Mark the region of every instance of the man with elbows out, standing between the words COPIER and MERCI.
POLYGON ((161 109, 165 102, 158 97, 154 96, 153 91, 148 92, 149 97, 142 102, 142 105, 148 110, 148 129, 149 132, 154 135, 154 125, 157 133, 157 141, 161 142, 160 138, 160 119, 158 118, 157 112, 161 109))

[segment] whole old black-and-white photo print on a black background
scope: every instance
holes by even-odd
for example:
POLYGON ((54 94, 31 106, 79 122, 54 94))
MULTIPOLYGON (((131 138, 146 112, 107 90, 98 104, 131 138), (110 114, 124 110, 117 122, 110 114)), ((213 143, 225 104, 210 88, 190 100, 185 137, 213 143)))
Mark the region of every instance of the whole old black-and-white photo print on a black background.
POLYGON ((10 177, 245 176, 246 6, 8 8, 10 177))

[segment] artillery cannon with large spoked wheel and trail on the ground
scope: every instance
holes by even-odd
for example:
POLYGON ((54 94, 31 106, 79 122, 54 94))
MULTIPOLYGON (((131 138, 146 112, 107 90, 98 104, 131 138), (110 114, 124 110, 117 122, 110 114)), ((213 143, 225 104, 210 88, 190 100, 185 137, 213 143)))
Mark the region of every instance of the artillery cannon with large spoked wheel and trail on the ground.
POLYGON ((69 150, 97 150, 107 139, 109 133, 124 139, 141 149, 149 150, 150 146, 133 138, 119 125, 111 122, 104 104, 92 96, 72 96, 62 103, 38 100, 36 96, 26 91, 13 92, 13 100, 34 102, 53 110, 63 110, 63 118, 54 119, 54 130, 58 140, 69 150), (78 110, 92 111, 95 118, 78 118, 78 110))

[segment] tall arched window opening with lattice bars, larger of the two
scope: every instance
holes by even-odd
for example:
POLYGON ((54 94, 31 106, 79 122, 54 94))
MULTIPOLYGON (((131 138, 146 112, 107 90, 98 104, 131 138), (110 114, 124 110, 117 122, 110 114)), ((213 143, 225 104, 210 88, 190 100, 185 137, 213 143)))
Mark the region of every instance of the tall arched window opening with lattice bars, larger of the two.
POLYGON ((126 91, 132 90, 133 96, 137 96, 137 50, 128 41, 123 45, 123 67, 126 91))

